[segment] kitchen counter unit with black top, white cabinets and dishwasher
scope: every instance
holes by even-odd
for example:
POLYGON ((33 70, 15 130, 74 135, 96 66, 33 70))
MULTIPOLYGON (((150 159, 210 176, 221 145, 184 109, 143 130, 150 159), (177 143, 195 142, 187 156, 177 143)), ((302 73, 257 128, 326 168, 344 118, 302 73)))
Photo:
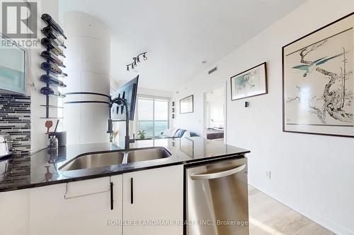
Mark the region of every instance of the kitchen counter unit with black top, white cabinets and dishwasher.
POLYGON ((0 183, 1 231, 6 235, 182 235, 186 231, 194 235, 200 229, 233 229, 248 234, 245 155, 249 150, 199 137, 138 140, 128 151, 120 146, 124 143, 69 145, 11 158, 11 173, 0 183), (169 155, 143 160, 145 150, 169 155), (121 155, 122 164, 75 163, 88 155, 108 159, 121 155), (215 205, 205 204, 210 200, 215 205), (240 224, 209 224, 215 217, 240 224))

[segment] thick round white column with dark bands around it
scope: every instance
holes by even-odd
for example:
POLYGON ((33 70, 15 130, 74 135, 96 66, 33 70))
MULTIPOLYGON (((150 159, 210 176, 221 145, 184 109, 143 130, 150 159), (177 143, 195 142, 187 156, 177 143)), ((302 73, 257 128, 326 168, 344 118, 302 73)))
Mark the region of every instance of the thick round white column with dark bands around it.
POLYGON ((98 19, 81 12, 64 16, 68 40, 64 59, 68 77, 64 99, 64 129, 69 144, 106 143, 110 94, 110 37, 108 28, 98 19), (93 92, 103 95, 86 95, 93 92), (91 103, 84 103, 90 101, 91 103), (83 103, 67 103, 83 102, 83 103), (96 102, 96 103, 95 103, 96 102))

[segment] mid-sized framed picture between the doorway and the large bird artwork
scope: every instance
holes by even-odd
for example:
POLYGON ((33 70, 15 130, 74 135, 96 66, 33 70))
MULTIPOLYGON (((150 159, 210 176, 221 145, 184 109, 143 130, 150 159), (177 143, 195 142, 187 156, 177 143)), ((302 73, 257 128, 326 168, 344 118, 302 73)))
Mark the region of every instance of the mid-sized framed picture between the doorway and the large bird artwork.
POLYGON ((230 83, 232 101, 268 94, 267 63, 232 76, 230 83))

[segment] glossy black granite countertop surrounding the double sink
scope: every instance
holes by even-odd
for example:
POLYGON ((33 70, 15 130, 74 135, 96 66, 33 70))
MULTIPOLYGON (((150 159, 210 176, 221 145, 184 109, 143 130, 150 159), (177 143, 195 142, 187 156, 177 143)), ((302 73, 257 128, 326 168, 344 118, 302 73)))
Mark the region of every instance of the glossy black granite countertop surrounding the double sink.
MULTIPOLYGON (((200 137, 138 140, 132 143, 130 147, 131 150, 144 147, 165 147, 166 150, 171 152, 171 157, 109 167, 60 171, 58 170, 60 167, 80 155, 90 152, 120 151, 123 150, 124 143, 68 145, 59 147, 54 152, 48 152, 45 149, 33 155, 22 155, 8 159, 11 162, 11 174, 5 176, 3 174, 0 177, 0 192, 112 176, 176 164, 195 164, 200 161, 212 161, 219 158, 243 157, 244 154, 250 152, 200 137)), ((1 161, 4 161, 4 159, 1 159, 1 161)))

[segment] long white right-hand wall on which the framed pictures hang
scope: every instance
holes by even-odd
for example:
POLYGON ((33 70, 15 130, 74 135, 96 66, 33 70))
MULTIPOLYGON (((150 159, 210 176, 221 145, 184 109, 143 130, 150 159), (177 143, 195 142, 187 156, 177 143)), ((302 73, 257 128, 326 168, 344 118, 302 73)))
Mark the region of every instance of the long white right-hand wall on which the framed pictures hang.
POLYGON ((227 143, 251 150, 249 183, 338 234, 354 234, 354 139, 282 133, 281 48, 353 11, 353 0, 307 1, 210 66, 219 71, 205 71, 173 97, 178 105, 194 95, 194 113, 177 112, 174 126, 202 133, 203 92, 227 81, 227 143), (264 61, 269 94, 232 102, 229 78, 264 61), (244 108, 245 101, 251 107, 244 108))

